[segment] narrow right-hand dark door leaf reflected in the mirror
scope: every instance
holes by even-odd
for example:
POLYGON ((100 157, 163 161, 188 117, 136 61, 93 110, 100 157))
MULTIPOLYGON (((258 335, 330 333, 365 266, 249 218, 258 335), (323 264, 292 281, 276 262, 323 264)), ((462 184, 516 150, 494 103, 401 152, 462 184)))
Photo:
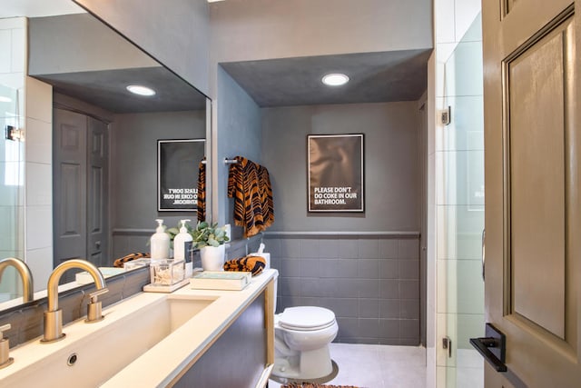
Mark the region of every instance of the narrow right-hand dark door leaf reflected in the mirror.
POLYGON ((108 126, 88 118, 87 132, 87 257, 97 266, 108 264, 108 126))

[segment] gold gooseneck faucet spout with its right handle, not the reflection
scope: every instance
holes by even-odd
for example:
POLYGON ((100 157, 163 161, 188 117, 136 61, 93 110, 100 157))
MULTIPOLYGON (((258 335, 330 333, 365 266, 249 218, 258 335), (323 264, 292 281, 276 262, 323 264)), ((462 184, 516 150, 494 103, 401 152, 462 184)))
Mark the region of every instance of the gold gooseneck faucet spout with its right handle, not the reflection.
POLYGON ((87 305, 87 321, 94 322, 101 320, 101 302, 97 302, 97 295, 106 293, 105 279, 101 271, 94 264, 86 260, 67 260, 54 268, 53 273, 48 278, 46 285, 47 310, 44 312, 44 337, 41 343, 53 343, 64 338, 63 333, 63 310, 58 308, 58 282, 66 270, 80 268, 93 276, 97 291, 89 294, 90 303, 87 305))

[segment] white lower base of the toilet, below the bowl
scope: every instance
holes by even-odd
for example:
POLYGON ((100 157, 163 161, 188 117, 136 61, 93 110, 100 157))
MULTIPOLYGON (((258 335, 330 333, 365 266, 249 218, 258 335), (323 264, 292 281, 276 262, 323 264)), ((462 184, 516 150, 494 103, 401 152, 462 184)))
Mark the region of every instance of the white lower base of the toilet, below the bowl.
POLYGON ((276 353, 272 374, 286 379, 320 379, 333 373, 329 346, 312 351, 297 352, 292 355, 276 353))

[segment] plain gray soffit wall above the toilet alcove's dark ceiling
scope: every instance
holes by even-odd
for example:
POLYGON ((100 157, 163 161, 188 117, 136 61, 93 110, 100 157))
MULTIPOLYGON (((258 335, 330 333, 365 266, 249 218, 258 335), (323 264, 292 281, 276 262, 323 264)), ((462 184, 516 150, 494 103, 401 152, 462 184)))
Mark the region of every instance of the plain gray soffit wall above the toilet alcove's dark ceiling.
POLYGON ((431 0, 229 0, 210 19, 212 63, 432 47, 431 0))

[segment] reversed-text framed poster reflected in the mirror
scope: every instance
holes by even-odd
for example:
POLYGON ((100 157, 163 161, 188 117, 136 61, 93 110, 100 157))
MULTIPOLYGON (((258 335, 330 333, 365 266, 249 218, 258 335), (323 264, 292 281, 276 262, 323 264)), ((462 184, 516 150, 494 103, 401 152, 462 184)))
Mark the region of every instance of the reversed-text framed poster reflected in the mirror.
POLYGON ((198 209, 198 169, 205 154, 204 139, 157 141, 157 210, 198 209))

